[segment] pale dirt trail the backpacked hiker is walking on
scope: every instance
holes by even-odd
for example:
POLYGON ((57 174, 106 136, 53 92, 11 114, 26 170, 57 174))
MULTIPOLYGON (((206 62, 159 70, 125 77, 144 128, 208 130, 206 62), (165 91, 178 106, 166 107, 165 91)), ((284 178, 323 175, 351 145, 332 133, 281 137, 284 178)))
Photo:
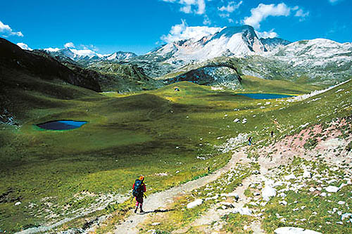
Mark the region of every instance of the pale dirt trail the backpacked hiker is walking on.
POLYGON ((239 162, 239 159, 241 158, 241 155, 235 153, 232 155, 230 162, 228 162, 225 167, 218 169, 218 171, 215 171, 213 174, 196 179, 195 181, 189 181, 188 183, 184 183, 180 186, 170 188, 169 190, 165 190, 160 193, 153 193, 144 200, 145 213, 134 214, 133 211, 131 211, 130 216, 128 216, 125 221, 116 226, 116 229, 113 230, 113 233, 138 233, 137 225, 146 221, 146 219, 151 216, 151 213, 165 212, 165 207, 167 207, 167 205, 172 202, 174 197, 190 192, 191 190, 200 188, 205 186, 207 183, 215 181, 221 176, 221 174, 234 167, 234 165, 239 162))

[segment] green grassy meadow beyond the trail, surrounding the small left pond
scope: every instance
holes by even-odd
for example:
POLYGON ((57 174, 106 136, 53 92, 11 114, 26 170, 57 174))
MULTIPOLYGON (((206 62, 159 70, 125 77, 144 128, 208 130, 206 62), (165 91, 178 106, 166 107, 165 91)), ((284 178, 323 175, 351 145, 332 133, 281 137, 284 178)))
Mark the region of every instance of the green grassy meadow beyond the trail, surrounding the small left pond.
MULTIPOLYGON (((20 127, 0 125, 0 233, 92 210, 94 204, 103 204, 101 197, 130 193, 141 174, 148 195, 202 176, 208 167, 214 171, 230 153, 221 154, 213 145, 239 133, 265 144, 272 129, 281 138, 306 122, 351 115, 351 95, 345 93, 351 91, 351 82, 344 84, 343 92, 322 93, 314 102, 287 103, 253 100, 189 82, 103 95, 39 80, 35 86, 22 84, 27 89, 19 91, 15 82, 22 80, 10 82, 6 90, 8 100, 16 103, 12 110, 20 127), (329 114, 317 118, 322 112, 329 114), (246 118, 246 124, 235 123, 237 118, 246 118), (88 124, 70 131, 39 131, 35 126, 58 119, 88 124)), ((241 92, 299 94, 318 89, 255 77, 246 77, 243 86, 241 92)))

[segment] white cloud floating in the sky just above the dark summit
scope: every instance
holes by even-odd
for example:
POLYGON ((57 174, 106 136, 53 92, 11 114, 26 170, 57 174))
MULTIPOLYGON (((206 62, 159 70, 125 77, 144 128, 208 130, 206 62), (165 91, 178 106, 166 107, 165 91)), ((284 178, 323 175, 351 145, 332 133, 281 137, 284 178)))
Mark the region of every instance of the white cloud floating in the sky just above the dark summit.
POLYGON ((256 29, 260 28, 260 22, 265 20, 268 16, 288 16, 291 8, 286 4, 259 4, 256 8, 251 9, 251 16, 244 18, 246 25, 251 25, 256 29))

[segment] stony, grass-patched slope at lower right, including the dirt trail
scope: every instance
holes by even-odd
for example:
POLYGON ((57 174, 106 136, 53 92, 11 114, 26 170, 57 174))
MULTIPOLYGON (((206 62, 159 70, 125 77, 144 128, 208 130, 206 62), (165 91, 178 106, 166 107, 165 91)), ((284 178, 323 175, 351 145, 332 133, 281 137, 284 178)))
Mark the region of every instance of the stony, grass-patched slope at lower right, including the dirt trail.
POLYGON ((346 143, 338 141, 351 141, 352 134, 339 139, 336 136, 341 131, 332 128, 351 129, 350 120, 332 122, 325 129, 329 131, 325 135, 332 136, 312 150, 304 150, 303 139, 282 149, 284 143, 299 139, 308 129, 268 147, 238 147, 230 162, 213 174, 146 198, 145 213, 134 214, 131 209, 118 223, 113 222, 113 215, 107 216, 85 231, 272 233, 279 227, 294 226, 321 233, 351 233, 352 152, 339 148, 346 143), (328 148, 322 147, 327 144, 328 148), (288 147, 295 150, 287 152, 288 147), (275 153, 279 150, 284 153, 275 153), (187 206, 196 200, 201 202, 187 206))

